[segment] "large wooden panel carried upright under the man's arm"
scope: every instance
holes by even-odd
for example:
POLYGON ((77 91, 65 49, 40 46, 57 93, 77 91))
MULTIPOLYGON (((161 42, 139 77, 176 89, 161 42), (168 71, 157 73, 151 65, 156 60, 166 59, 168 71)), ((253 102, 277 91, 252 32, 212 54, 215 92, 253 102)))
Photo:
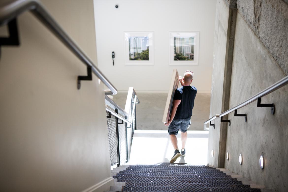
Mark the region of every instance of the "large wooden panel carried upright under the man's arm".
POLYGON ((174 69, 173 74, 172 74, 172 78, 171 78, 171 83, 170 83, 170 88, 169 88, 167 100, 166 100, 164 115, 163 115, 163 119, 162 119, 163 123, 167 123, 169 121, 171 109, 172 109, 172 104, 173 104, 174 93, 175 93, 175 90, 179 86, 178 78, 179 78, 178 71, 177 71, 177 69, 174 69))

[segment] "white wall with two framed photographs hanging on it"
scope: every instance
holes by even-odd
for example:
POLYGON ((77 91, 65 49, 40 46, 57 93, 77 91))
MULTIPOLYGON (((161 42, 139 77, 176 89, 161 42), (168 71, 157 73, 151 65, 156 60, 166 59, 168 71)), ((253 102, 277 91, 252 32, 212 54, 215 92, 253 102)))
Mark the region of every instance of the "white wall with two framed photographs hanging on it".
POLYGON ((176 68, 181 75, 192 70, 192 84, 210 93, 216 1, 94 0, 94 8, 98 67, 118 90, 132 86, 138 92, 168 91, 176 68), (153 66, 124 64, 124 31, 154 31, 153 66), (200 31, 198 66, 169 66, 169 31, 200 31))

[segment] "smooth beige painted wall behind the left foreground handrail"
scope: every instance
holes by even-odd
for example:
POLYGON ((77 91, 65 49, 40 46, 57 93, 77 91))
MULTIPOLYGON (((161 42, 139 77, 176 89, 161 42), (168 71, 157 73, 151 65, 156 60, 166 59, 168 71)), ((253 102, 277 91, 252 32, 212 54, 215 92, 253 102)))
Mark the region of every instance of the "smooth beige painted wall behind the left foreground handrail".
MULTIPOLYGON (((96 63, 93 1, 42 2, 96 63)), ((18 27, 21 45, 1 46, 0 191, 109 189, 104 85, 77 90, 86 66, 31 13, 18 27)))

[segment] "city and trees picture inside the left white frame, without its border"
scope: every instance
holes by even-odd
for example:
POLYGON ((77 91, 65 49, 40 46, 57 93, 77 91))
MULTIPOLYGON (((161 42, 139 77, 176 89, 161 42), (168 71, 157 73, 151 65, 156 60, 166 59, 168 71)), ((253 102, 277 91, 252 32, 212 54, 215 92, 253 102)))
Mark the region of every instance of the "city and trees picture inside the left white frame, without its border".
POLYGON ((129 60, 149 60, 149 37, 129 37, 129 60))

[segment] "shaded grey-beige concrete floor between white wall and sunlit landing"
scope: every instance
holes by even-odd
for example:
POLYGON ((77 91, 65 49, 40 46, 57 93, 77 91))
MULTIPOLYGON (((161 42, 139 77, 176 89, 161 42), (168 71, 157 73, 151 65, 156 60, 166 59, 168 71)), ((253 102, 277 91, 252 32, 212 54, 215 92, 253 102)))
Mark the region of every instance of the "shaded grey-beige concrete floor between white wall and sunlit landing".
MULTIPOLYGON (((168 93, 137 93, 140 104, 136 106, 138 130, 168 130, 162 123, 168 93)), ((114 102, 124 109, 127 93, 113 96, 114 102)), ((198 93, 195 98, 193 116, 189 130, 203 130, 209 119, 210 94, 198 93)))

